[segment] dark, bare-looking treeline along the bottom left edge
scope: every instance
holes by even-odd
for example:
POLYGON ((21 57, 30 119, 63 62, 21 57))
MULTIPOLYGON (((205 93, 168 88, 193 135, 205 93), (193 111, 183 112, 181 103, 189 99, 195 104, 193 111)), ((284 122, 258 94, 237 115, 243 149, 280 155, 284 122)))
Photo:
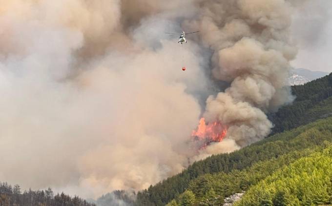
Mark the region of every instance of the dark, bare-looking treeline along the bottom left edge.
POLYGON ((96 206, 78 196, 70 197, 63 192, 54 194, 47 190, 21 191, 20 185, 0 183, 0 206, 96 206))

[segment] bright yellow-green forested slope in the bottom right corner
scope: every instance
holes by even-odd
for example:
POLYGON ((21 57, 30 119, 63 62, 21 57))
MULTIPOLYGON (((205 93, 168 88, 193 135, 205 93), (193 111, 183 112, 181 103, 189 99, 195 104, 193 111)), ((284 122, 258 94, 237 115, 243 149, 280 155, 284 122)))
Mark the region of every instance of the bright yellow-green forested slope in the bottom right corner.
POLYGON ((235 206, 332 203, 332 146, 279 169, 251 187, 235 206))

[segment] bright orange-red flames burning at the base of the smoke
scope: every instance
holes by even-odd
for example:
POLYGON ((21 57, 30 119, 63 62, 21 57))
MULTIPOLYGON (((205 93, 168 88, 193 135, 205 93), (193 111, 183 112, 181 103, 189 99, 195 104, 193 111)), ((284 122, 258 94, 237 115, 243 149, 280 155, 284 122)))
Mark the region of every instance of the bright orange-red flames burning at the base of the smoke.
POLYGON ((202 118, 199 121, 197 130, 192 131, 193 137, 198 138, 206 142, 206 145, 212 142, 221 142, 227 135, 227 126, 220 122, 206 123, 205 119, 202 118))

